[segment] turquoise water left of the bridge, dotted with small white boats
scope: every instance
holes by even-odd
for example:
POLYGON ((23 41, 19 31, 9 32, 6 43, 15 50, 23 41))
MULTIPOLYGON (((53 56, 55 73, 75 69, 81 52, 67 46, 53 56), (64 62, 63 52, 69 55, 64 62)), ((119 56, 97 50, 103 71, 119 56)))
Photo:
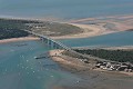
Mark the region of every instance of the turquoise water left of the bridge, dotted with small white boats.
POLYGON ((0 89, 52 89, 75 83, 79 78, 61 70, 51 59, 33 58, 48 50, 40 41, 0 44, 0 89))

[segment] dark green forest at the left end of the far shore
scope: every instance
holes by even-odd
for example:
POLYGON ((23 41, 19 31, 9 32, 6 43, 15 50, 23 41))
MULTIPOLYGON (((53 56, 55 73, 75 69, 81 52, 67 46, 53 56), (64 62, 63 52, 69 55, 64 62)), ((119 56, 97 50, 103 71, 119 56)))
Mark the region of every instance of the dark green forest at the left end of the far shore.
POLYGON ((39 23, 39 21, 0 19, 0 40, 29 36, 23 31, 23 29, 29 29, 25 23, 39 23))

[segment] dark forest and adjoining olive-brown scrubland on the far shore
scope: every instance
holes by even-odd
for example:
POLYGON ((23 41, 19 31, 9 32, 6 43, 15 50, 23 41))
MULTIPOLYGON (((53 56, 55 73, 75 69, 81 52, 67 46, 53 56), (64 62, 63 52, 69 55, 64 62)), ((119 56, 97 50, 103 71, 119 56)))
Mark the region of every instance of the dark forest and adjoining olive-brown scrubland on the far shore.
POLYGON ((79 27, 68 23, 38 20, 0 19, 0 39, 29 36, 29 33, 24 30, 30 30, 35 33, 51 37, 82 32, 79 27))

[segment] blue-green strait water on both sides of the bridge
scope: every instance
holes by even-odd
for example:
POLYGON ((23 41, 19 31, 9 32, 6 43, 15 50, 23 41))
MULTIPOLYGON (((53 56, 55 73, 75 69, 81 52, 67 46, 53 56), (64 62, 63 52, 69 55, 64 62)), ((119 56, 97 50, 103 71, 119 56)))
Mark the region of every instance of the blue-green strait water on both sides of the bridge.
MULTIPOLYGON (((133 31, 92 38, 59 40, 70 47, 133 46, 133 31)), ((82 80, 64 71, 51 59, 35 60, 51 48, 41 41, 20 41, 0 44, 0 89, 53 89, 76 86, 82 80)))

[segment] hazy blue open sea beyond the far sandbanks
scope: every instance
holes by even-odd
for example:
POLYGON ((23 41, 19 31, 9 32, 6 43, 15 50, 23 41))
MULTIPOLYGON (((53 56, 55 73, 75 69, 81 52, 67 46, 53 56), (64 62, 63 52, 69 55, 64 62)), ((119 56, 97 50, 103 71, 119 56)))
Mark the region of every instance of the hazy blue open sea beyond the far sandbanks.
POLYGON ((133 13, 133 0, 0 0, 0 16, 79 19, 133 13))

